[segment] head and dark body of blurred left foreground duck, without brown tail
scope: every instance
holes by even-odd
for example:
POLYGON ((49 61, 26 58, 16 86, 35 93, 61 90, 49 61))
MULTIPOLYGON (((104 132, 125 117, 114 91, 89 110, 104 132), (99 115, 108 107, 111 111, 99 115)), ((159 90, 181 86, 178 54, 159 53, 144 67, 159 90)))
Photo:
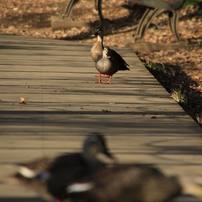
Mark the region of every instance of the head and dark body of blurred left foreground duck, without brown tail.
POLYGON ((66 186, 72 181, 90 175, 106 166, 99 160, 100 155, 113 158, 108 152, 105 139, 102 135, 92 135, 87 138, 83 146, 83 152, 74 154, 71 159, 65 157, 59 159, 61 163, 56 163, 50 168, 51 177, 47 181, 48 191, 57 199, 66 198, 66 186))

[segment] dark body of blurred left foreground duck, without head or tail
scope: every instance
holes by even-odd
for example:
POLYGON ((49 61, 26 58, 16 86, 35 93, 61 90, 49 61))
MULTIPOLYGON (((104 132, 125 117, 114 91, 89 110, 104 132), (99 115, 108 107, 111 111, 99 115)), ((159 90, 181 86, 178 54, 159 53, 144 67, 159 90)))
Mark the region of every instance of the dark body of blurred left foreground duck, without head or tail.
POLYGON ((76 153, 62 156, 49 170, 51 176, 47 180, 47 189, 54 198, 63 200, 66 197, 66 186, 86 175, 103 168, 100 161, 89 163, 82 154, 76 153))

